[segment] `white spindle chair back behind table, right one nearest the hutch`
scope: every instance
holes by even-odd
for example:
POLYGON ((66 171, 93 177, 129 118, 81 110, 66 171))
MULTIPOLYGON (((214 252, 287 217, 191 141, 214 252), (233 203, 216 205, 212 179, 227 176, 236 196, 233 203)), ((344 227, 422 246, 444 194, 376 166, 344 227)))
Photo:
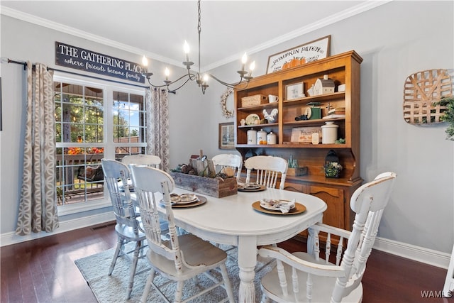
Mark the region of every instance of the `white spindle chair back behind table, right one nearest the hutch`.
POLYGON ((286 160, 271 155, 256 155, 246 159, 244 167, 246 167, 246 183, 250 182, 252 170, 257 170, 256 183, 275 188, 280 175, 279 189, 284 189, 288 167, 286 160))

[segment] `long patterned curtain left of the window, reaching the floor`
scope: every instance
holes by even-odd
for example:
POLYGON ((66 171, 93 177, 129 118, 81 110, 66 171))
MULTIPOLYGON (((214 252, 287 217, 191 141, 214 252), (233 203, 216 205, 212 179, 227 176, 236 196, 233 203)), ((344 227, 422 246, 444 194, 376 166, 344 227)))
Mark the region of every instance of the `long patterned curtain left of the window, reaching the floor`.
POLYGON ((26 136, 16 234, 58 227, 55 194, 55 104, 53 72, 27 62, 26 136))

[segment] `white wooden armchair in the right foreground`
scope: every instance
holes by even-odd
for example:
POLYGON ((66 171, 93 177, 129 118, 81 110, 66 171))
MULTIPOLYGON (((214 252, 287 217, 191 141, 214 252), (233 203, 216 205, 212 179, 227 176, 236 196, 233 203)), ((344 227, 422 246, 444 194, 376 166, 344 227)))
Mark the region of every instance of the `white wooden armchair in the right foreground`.
POLYGON ((353 231, 319 223, 309 228, 308 253, 260 248, 260 255, 277 260, 276 268, 262 277, 262 302, 361 302, 362 276, 395 178, 394 172, 385 172, 355 190, 350 199, 353 231), (326 236, 324 259, 319 232, 326 236), (336 255, 330 256, 333 240, 338 245, 336 255))

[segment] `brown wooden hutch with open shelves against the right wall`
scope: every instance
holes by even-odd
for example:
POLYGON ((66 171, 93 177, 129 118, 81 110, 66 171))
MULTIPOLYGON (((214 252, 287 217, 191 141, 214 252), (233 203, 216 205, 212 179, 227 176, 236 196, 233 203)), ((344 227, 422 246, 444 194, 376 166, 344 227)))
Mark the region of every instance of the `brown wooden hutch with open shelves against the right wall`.
MULTIPOLYGON (((350 230, 353 214, 350 211, 350 197, 362 183, 360 177, 360 64, 362 58, 355 51, 333 55, 325 59, 309 62, 279 72, 262 75, 252 79, 246 89, 235 90, 235 138, 236 149, 243 155, 275 155, 284 159, 296 159, 299 167, 307 167, 307 174, 302 176, 287 175, 285 189, 313 194, 328 204, 323 214, 323 222, 350 230), (307 89, 318 79, 328 75, 336 89, 310 97, 307 89), (287 86, 303 84, 306 97, 287 97, 287 86), (338 85, 344 84, 345 91, 338 92, 338 85), (259 101, 256 105, 242 102, 243 97, 256 95, 279 97, 275 103, 259 101), (313 104, 319 104, 321 119, 299 120, 295 118, 307 113, 313 104), (328 116, 328 109, 345 108, 345 118, 323 119, 328 116), (264 118, 264 110, 269 114, 277 109, 277 119, 272 123, 241 125, 241 120, 251 114, 264 118), (326 121, 333 121, 338 126, 337 138, 345 139, 342 144, 312 144, 292 140, 294 128, 321 128, 326 121), (248 131, 266 131, 277 135, 277 144, 248 144, 248 131), (339 178, 325 177, 323 165, 329 150, 338 155, 343 170, 339 178)), ((301 86, 299 86, 301 87, 301 86)), ((341 89, 343 90, 343 89, 341 89)), ((314 117, 313 117, 314 118, 314 117)), ((319 117, 316 117, 319 118, 319 117)))

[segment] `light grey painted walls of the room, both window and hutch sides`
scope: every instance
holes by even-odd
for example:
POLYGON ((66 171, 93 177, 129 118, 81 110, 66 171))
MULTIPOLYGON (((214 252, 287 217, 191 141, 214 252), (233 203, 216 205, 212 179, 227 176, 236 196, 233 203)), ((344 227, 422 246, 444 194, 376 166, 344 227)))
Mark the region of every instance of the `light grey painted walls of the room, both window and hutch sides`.
MULTIPOLYGON (((331 35, 331 54, 356 50, 362 56, 361 176, 369 181, 386 170, 398 175, 379 236, 443 253, 450 253, 453 247, 454 143, 445 140, 443 125, 417 127, 405 123, 402 102, 404 81, 412 73, 453 69, 453 13, 453 1, 392 1, 250 55, 258 66, 255 75, 262 75, 269 55, 331 35)), ((276 21, 276 26, 279 22, 284 22, 284 17, 276 21)), ((55 40, 140 62, 140 54, 1 18, 1 56, 43 62, 52 67, 55 40)), ((162 69, 159 62, 155 64, 153 70, 162 69)), ((233 82, 238 66, 239 61, 213 72, 233 82)), ((3 234, 13 231, 16 225, 22 167, 23 70, 17 65, 2 65, 1 73, 4 131, 0 137, 0 227, 3 234)), ((218 123, 233 119, 221 115, 219 102, 224 88, 210 85, 205 95, 199 93, 195 84, 170 95, 172 166, 187 162, 189 155, 198 153, 199 149, 209 156, 225 152, 218 150, 218 123)), ((233 101, 229 106, 233 108, 233 101)))

